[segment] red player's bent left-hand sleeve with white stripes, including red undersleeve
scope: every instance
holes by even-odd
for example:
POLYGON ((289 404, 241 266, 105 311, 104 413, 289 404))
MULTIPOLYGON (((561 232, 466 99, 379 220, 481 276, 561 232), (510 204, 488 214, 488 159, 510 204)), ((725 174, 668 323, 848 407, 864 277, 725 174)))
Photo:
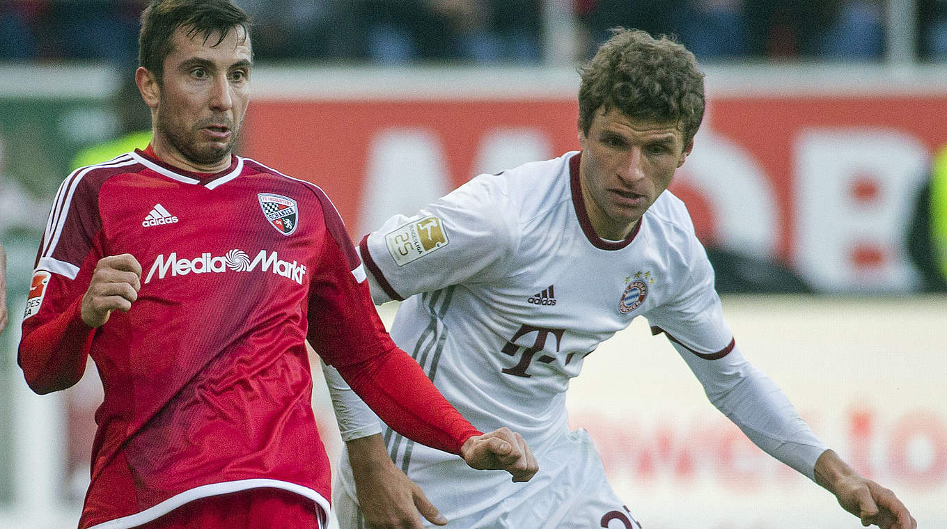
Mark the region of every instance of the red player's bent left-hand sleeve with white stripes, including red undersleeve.
POLYGON ((98 188, 114 171, 82 168, 60 186, 40 249, 24 313, 17 361, 37 393, 82 378, 94 330, 80 318, 82 295, 102 254, 98 188))

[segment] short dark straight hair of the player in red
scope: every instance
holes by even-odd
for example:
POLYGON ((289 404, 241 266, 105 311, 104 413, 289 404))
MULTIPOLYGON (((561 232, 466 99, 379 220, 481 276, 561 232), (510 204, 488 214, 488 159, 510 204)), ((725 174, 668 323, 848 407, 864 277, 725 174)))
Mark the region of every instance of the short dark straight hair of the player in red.
POLYGON ((178 27, 186 27, 188 37, 202 34, 205 44, 216 32, 219 39, 212 45, 217 45, 236 27, 242 27, 249 38, 250 26, 250 17, 230 0, 152 0, 141 13, 138 65, 152 72, 160 84, 178 27))

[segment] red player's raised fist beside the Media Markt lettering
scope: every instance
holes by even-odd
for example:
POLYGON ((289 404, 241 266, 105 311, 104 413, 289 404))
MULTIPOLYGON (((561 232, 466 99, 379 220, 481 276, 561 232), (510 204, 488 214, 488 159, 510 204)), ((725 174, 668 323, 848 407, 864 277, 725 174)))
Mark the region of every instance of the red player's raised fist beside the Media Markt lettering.
POLYGON ((113 310, 128 312, 141 290, 141 265, 131 254, 98 259, 89 288, 82 296, 85 325, 103 326, 113 310))

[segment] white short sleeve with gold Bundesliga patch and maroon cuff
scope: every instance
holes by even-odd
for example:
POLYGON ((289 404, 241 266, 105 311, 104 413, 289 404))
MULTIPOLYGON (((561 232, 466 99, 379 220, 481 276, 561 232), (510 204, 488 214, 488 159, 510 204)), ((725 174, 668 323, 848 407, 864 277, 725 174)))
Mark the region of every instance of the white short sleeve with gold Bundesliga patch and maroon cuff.
POLYGON ((359 251, 377 302, 458 283, 489 282, 519 243, 504 181, 480 175, 411 217, 396 215, 363 238, 359 251), (392 287, 397 285, 397 287, 392 287))

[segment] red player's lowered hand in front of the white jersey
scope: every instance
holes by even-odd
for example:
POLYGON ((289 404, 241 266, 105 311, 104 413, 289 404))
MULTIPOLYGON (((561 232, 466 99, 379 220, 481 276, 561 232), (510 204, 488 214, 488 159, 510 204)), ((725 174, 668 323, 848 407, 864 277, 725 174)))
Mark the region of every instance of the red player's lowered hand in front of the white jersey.
POLYGON ((539 470, 536 458, 519 433, 499 428, 464 441, 460 455, 478 470, 506 470, 514 482, 527 482, 539 470))

